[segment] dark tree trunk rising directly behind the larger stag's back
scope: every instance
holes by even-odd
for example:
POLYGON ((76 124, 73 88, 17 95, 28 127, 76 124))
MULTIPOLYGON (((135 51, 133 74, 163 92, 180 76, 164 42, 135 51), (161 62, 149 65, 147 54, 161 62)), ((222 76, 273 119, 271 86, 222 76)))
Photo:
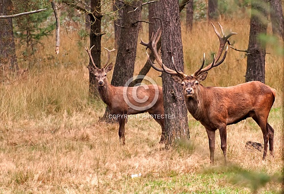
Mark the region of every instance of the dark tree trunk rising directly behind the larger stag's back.
POLYGON ((258 39, 260 34, 266 34, 267 29, 267 1, 252 0, 251 9, 254 10, 250 19, 247 67, 245 81, 258 80, 265 82, 265 43, 258 39), (258 12, 258 14, 253 14, 258 12), (261 17, 261 18, 260 18, 261 17))

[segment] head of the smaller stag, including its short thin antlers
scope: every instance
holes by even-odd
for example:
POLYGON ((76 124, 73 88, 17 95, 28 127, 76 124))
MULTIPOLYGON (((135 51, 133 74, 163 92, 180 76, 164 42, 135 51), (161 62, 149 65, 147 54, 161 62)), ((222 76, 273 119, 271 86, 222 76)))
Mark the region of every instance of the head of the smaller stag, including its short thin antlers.
POLYGON ((96 67, 94 60, 91 56, 91 49, 93 47, 94 46, 92 46, 90 49, 87 49, 85 47, 85 49, 86 49, 86 51, 89 55, 89 58, 91 59, 91 62, 92 62, 87 67, 89 69, 89 72, 95 76, 97 86, 104 86, 105 83, 107 82, 107 73, 112 69, 112 63, 109 63, 109 56, 110 56, 110 53, 112 51, 115 51, 115 49, 109 50, 109 49, 104 47, 108 51, 108 59, 107 59, 106 64, 103 66, 103 68, 99 69, 99 68, 96 67))

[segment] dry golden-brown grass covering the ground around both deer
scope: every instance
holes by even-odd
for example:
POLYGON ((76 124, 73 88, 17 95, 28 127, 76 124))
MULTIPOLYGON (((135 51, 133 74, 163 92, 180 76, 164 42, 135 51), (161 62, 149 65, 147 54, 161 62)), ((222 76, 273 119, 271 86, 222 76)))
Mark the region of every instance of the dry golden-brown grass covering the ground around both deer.
MULTIPOLYGON (((247 47, 248 19, 219 22, 238 32, 231 39, 234 47, 247 47)), ((141 36, 147 39, 146 30, 141 36)), ((208 60, 210 52, 216 52, 218 39, 205 22, 196 23, 191 33, 183 30, 182 36, 185 71, 191 73, 200 65, 203 52, 208 60)), ((261 177, 270 181, 259 192, 281 191, 283 60, 272 49, 267 49, 271 54, 266 58, 266 83, 277 90, 268 119, 275 129, 275 157, 262 161, 262 152, 245 148, 246 141, 263 141, 259 127, 247 119, 228 126, 231 164, 224 167, 219 138, 216 164, 211 166, 204 127, 191 116, 190 142, 165 150, 158 143, 161 129, 155 121, 132 118, 126 145, 120 146, 118 124, 100 123, 105 105, 88 99, 87 41, 71 41, 64 32, 61 37, 59 56, 53 55, 53 37, 46 38, 34 61, 19 61, 22 68, 30 67, 28 74, 0 85, 0 193, 247 194, 253 185, 261 185, 261 177), (245 179, 244 172, 256 176, 245 179), (131 174, 139 173, 141 177, 131 179, 131 174), (244 181, 236 182, 234 177, 244 181)), ((111 47, 113 40, 104 38, 102 44, 111 47)), ((135 73, 146 61, 141 45, 137 52, 135 73)), ((114 55, 111 60, 115 61, 114 55)), ((229 50, 224 64, 210 71, 204 85, 243 82, 245 64, 243 53, 229 50)), ((158 75, 154 70, 148 74, 161 84, 158 75)))

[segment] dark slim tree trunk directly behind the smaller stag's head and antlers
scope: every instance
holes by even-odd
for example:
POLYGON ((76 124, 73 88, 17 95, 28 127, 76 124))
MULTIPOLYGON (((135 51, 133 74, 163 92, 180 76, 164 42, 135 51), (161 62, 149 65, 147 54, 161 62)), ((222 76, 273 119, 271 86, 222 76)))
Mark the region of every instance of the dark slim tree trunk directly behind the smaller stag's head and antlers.
MULTIPOLYGON (((94 45, 91 50, 91 55, 94 60, 95 65, 98 68, 101 68, 101 0, 91 0, 91 12, 93 14, 89 14, 90 16, 90 48, 94 45)), ((89 60, 91 64, 91 61, 89 60)), ((93 74, 89 73, 89 95, 90 97, 97 97, 97 85, 95 82, 95 77, 93 74)))

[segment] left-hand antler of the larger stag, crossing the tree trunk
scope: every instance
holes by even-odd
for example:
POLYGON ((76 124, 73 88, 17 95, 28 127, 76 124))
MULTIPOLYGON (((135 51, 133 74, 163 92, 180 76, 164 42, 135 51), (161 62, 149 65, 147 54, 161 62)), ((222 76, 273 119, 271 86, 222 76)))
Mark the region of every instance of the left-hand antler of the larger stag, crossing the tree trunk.
POLYGON ((160 39, 160 37, 161 37, 161 30, 158 29, 158 31, 157 31, 155 34, 152 33, 152 36, 151 36, 150 41, 149 41, 148 43, 144 42, 142 39, 141 39, 141 42, 139 42, 140 44, 146 46, 146 50, 147 50, 147 48, 149 48, 149 49, 151 50, 151 52, 153 52, 154 57, 155 57, 157 63, 159 64, 159 66, 160 66, 161 68, 157 68, 157 67, 155 67, 155 66, 153 65, 153 62, 151 61, 150 56, 149 56, 148 53, 146 52, 146 54, 147 54, 147 56, 148 56, 148 61, 149 61, 150 65, 151 65, 156 71, 165 72, 165 73, 170 74, 170 75, 176 75, 176 76, 185 78, 187 75, 185 75, 184 73, 182 73, 182 72, 176 70, 175 62, 174 62, 174 57, 172 57, 172 59, 173 59, 173 64, 174 64, 175 70, 172 70, 172 69, 166 67, 166 66, 163 64, 162 59, 159 57, 158 52, 157 52, 157 42, 158 42, 158 40, 160 39))

